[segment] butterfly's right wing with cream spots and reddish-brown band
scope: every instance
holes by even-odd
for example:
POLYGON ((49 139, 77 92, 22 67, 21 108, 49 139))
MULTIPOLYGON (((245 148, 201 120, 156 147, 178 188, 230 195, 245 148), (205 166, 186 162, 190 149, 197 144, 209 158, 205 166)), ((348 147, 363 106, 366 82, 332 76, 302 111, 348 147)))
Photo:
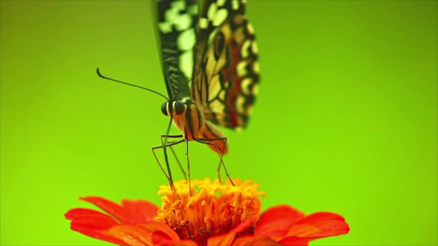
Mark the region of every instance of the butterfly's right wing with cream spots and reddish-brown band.
POLYGON ((245 127, 257 94, 259 65, 245 1, 205 1, 194 46, 192 100, 205 118, 228 128, 245 127))

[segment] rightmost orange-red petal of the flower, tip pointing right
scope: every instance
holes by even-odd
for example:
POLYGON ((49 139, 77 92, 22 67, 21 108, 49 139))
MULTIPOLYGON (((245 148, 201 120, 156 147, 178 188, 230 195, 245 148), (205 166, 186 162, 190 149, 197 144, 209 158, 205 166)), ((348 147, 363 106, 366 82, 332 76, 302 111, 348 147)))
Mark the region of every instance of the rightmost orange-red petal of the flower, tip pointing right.
POLYGON ((326 236, 346 234, 350 231, 344 217, 335 213, 318 212, 298 221, 287 232, 287 236, 298 236, 311 240, 326 236))

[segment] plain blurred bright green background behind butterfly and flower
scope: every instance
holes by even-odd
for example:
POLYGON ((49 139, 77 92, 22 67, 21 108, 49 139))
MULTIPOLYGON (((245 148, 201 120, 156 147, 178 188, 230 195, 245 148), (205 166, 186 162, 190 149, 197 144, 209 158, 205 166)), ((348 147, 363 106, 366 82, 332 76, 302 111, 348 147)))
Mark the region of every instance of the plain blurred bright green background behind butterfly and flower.
MULTIPOLYGON (((163 100, 95 73, 166 93, 150 7, 1 1, 1 245, 105 245, 70 231, 64 213, 92 207, 79 196, 159 203, 163 100)), ((261 183, 263 209, 344 215, 350 234, 313 245, 438 244, 437 8, 248 1, 261 84, 225 161, 261 183)), ((216 177, 209 148, 190 158, 216 177)))

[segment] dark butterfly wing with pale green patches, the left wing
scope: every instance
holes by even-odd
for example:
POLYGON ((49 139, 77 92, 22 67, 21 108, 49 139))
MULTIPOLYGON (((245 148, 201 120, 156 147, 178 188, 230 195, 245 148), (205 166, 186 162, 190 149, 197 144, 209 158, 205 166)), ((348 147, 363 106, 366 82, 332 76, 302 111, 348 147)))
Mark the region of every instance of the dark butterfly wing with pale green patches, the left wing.
POLYGON ((162 68, 170 100, 190 96, 196 1, 157 0, 155 9, 162 68))

